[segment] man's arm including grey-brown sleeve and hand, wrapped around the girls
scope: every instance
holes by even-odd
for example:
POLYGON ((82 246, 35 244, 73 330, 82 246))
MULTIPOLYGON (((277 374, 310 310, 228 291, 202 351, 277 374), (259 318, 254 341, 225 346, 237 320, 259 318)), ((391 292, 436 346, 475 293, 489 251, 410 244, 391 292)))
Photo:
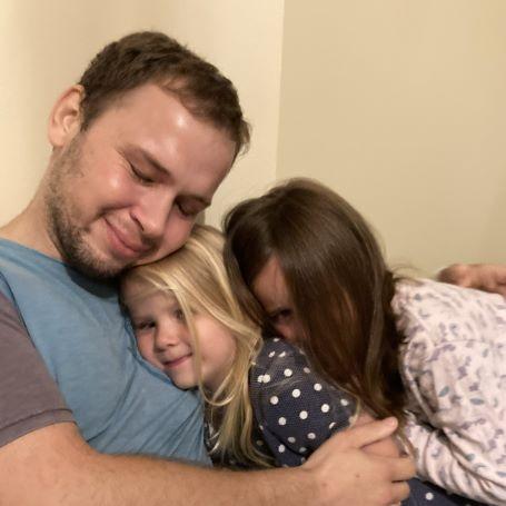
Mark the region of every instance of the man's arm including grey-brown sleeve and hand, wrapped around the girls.
POLYGON ((71 415, 16 309, 0 299, 1 505, 379 506, 408 493, 395 482, 413 475, 409 460, 358 449, 389 436, 395 425, 388 423, 338 435, 297 469, 232 473, 99 454, 68 421, 71 415))

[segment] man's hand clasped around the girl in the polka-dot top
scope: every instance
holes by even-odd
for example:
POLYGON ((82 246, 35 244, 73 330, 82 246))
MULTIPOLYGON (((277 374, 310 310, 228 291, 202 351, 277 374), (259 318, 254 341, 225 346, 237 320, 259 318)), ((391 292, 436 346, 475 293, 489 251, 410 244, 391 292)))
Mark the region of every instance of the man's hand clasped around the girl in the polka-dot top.
POLYGON ((415 475, 408 457, 381 457, 363 447, 393 435, 394 418, 371 421, 337 434, 320 446, 302 469, 315 475, 319 505, 386 506, 409 495, 407 479, 415 475))

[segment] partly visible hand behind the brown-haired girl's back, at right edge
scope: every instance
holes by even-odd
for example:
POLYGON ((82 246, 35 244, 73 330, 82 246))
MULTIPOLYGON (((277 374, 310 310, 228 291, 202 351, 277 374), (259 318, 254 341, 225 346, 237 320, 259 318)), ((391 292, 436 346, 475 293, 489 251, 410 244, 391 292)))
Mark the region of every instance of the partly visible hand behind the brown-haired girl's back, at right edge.
POLYGON ((437 279, 462 287, 500 294, 506 297, 505 265, 454 264, 439 271, 437 279))

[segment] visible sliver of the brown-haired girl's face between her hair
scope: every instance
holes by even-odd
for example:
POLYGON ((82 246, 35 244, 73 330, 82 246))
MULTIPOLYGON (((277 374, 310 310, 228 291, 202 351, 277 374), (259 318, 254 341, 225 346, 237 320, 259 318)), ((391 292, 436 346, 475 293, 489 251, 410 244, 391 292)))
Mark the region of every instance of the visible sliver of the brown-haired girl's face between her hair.
POLYGON ((272 256, 252 282, 252 291, 262 305, 279 336, 289 343, 304 339, 304 328, 288 290, 285 274, 272 256))

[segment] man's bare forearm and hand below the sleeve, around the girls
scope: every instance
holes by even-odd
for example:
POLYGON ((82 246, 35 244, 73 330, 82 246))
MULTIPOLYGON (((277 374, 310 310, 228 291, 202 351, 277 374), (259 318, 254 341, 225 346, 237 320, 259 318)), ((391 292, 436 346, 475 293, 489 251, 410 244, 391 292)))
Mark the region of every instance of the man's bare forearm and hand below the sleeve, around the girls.
POLYGON ((367 456, 358 448, 395 428, 389 419, 338 434, 299 468, 235 473, 98 454, 73 424, 61 423, 0 449, 0 504, 388 505, 407 496, 403 482, 413 476, 413 464, 367 456))

